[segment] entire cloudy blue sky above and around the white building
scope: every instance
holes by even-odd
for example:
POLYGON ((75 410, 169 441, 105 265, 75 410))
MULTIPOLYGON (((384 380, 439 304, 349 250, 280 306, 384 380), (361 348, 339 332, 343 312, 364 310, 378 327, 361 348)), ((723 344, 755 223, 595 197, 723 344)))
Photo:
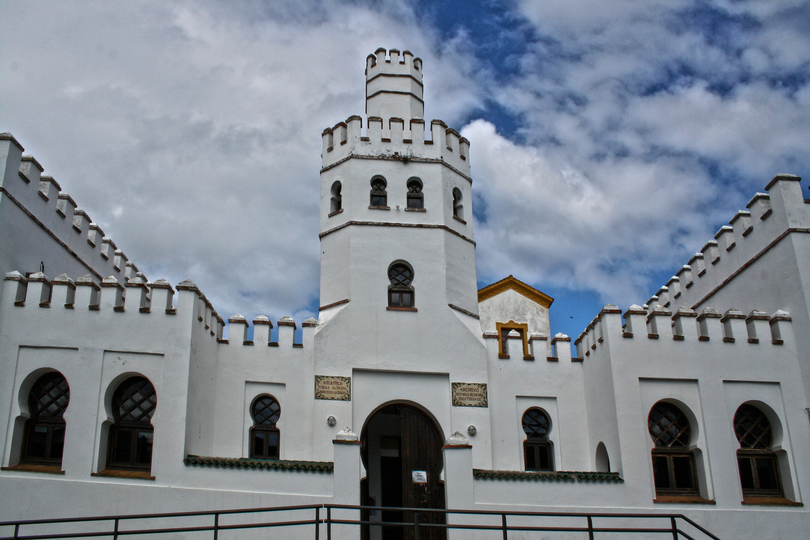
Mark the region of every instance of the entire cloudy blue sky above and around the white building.
POLYGON ((772 176, 810 177, 804 0, 2 2, 0 130, 149 278, 303 320, 319 134, 363 111, 381 46, 471 140, 480 285, 553 296, 552 332, 645 302, 772 176))

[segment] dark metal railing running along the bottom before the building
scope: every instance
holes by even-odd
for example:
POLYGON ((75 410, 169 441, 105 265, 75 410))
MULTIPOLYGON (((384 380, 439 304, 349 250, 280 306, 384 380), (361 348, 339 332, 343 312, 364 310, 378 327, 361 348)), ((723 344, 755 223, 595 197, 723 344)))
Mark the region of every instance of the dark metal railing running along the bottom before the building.
MULTIPOLYGON (((343 513, 343 512, 338 512, 343 513)), ((361 514, 362 515, 362 514, 361 514)), ((468 520, 469 521, 469 520, 468 520)), ((358 525, 355 538, 360 537, 360 529, 364 526, 367 527, 401 527, 411 528, 413 531, 413 538, 420 540, 420 534, 425 529, 472 529, 472 530, 492 530, 500 531, 503 540, 508 540, 509 531, 536 531, 536 532, 556 532, 556 533, 587 533, 589 540, 595 539, 595 534, 600 533, 647 533, 647 534, 671 534, 673 540, 699 540, 690 534, 686 533, 680 527, 683 524, 689 524, 694 529, 699 531, 702 535, 701 538, 711 538, 712 540, 720 540, 718 537, 711 534, 708 530, 697 525, 689 517, 683 514, 671 513, 599 513, 599 512, 498 512, 487 510, 445 510, 433 508, 399 508, 399 507, 379 507, 379 506, 356 506, 350 504, 310 504, 302 506, 281 506, 271 508, 243 508, 239 510, 211 510, 206 512, 173 512, 173 513, 156 513, 156 514, 133 514, 126 516, 104 516, 104 517, 67 517, 59 519, 45 519, 45 520, 25 520, 25 521, 2 521, 0 522, 0 529, 13 528, 14 534, 12 536, 2 536, 0 540, 46 540, 50 538, 97 538, 97 537, 112 537, 113 540, 118 540, 122 536, 134 536, 143 534, 177 534, 177 533, 203 533, 212 532, 213 540, 219 540, 220 531, 228 531, 234 529, 262 529, 271 527, 297 527, 303 525, 313 525, 313 532, 315 540, 319 540, 321 532, 321 525, 326 525, 326 540, 332 540, 332 526, 333 525, 358 525), (326 516, 323 516, 322 510, 326 510, 326 516), (332 516, 333 510, 339 511, 358 511, 358 512, 408 512, 412 514, 412 521, 371 521, 370 519, 344 519, 332 516), (270 512, 313 512, 311 519, 298 519, 288 521, 259 521, 253 523, 220 523, 220 517, 231 516, 234 514, 263 514, 270 512), (431 515, 433 514, 433 515, 431 515), (437 516, 441 514, 441 516, 437 516), (447 523, 448 517, 456 517, 454 521, 463 521, 463 517, 480 516, 492 517, 497 521, 494 524, 476 524, 476 523, 447 523), (197 525, 197 526, 173 526, 163 528, 135 528, 135 529, 122 529, 122 522, 136 521, 136 520, 163 520, 185 517, 210 517, 212 523, 210 525, 197 525), (422 519, 420 519, 420 517, 422 519), (500 517, 500 520, 497 520, 500 517), (427 519, 425 519, 427 518, 427 519), (430 519, 433 518, 433 519, 430 519), (516 524, 516 518, 531 518, 535 521, 552 521, 549 518, 575 518, 584 521, 582 526, 554 526, 538 523, 536 525, 522 525, 516 524), (545 518, 545 519, 544 519, 545 518), (645 525, 638 527, 606 527, 596 526, 595 520, 633 520, 645 521, 645 525), (650 523, 651 520, 668 522, 667 526, 654 526, 661 525, 650 523), (679 522, 679 520, 681 522, 679 522), (437 523, 435 521, 444 521, 437 523), (511 521, 511 524, 510 524, 511 521), (58 525, 58 524, 91 524, 109 522, 109 526, 104 530, 83 530, 80 532, 67 532, 60 530, 53 533, 43 534, 23 534, 23 528, 34 528, 36 525, 58 525)), ((90 528, 89 526, 87 528, 90 528)), ((690 531, 695 534, 694 531, 690 531)), ((429 535, 429 534, 428 534, 429 535)), ((343 535, 341 535, 343 536, 343 535)))

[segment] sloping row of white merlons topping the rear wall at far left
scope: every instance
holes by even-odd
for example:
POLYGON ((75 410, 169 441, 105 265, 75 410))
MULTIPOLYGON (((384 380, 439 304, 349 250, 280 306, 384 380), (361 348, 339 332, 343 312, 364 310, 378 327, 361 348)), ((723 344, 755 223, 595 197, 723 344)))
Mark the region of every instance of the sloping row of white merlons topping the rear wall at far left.
MULTIPOLYGON (((23 151, 13 135, 0 134, 3 169, 0 193, 19 209, 20 221, 14 227, 19 240, 37 244, 50 240, 58 244, 58 249, 66 251, 64 257, 54 258, 53 264, 50 264, 47 254, 32 253, 36 266, 41 258, 45 270, 65 272, 81 268, 89 271, 96 283, 100 283, 104 276, 113 275, 123 285, 126 279, 137 274, 137 266, 123 253, 113 255, 115 244, 104 236, 104 231, 92 221, 87 211, 79 208, 70 194, 62 191, 62 186, 53 176, 43 174, 45 168, 37 159, 23 155, 23 151), (59 267, 65 259, 70 260, 72 266, 59 267)), ((43 249, 43 253, 49 253, 49 250, 43 249)), ((28 263, 17 261, 16 264, 22 270, 28 263)))

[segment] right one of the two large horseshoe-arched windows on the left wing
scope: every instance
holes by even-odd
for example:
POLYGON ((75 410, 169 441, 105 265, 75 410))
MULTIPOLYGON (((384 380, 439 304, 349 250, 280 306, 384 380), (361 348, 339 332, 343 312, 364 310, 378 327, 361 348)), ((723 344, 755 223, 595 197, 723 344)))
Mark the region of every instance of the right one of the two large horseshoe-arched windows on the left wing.
POLYGON ((109 428, 108 469, 151 470, 151 450, 157 395, 146 377, 134 376, 113 393, 113 419, 109 428))

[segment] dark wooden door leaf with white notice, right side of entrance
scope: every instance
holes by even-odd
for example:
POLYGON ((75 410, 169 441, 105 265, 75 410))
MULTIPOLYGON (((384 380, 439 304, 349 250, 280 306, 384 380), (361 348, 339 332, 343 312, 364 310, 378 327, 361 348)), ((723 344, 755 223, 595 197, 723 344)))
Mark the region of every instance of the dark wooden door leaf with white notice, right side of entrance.
MULTIPOLYGON (((402 437, 403 507, 445 508, 445 485, 440 480, 443 441, 433 419, 413 406, 399 407, 402 437), (413 471, 424 471, 427 482, 415 483, 413 471)), ((404 512, 404 521, 412 522, 414 512, 404 512)), ((419 512, 420 523, 445 523, 439 512, 419 512)), ((405 529, 405 540, 414 538, 412 527, 405 529)), ((420 540, 444 540, 445 529, 420 527, 420 540)))

